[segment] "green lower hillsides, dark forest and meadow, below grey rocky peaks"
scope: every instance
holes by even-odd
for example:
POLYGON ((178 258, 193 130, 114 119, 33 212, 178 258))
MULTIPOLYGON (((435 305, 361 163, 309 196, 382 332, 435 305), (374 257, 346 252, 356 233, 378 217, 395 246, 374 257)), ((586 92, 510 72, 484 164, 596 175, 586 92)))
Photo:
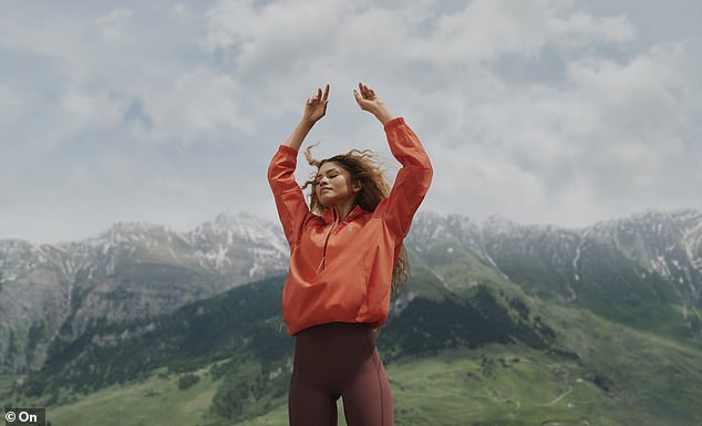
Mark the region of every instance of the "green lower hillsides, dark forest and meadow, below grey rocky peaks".
MULTIPOLYGON (((379 339, 398 425, 702 424, 702 343, 649 326, 667 316, 643 318, 646 303, 617 304, 631 310, 626 321, 598 315, 626 285, 605 287, 588 306, 565 303, 452 254, 456 263, 415 263, 413 299, 379 339)), ((623 270, 622 283, 636 281, 607 267, 608 280, 623 270)), ((281 285, 99 324, 54 353, 13 405, 49 405, 52 426, 286 425, 292 340, 278 331, 281 285)))

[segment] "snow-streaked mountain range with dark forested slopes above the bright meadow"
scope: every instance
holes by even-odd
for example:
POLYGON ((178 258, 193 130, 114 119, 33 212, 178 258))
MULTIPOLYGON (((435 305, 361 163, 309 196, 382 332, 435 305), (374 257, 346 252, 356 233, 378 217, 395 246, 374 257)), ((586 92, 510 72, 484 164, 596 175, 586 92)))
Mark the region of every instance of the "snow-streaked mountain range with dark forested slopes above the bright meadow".
MULTIPOLYGON (((580 330, 570 312, 693 349, 702 340, 696 210, 579 229, 420 212, 405 248, 413 272, 380 341, 390 363, 522 344, 571 360, 607 391, 626 380, 601 351, 574 337, 593 331, 580 330)), ((272 378, 245 392, 231 378, 241 370, 225 363, 214 371, 228 384, 211 404, 231 420, 261 415, 280 403, 280 372, 290 363, 289 340, 279 332, 287 257, 278 224, 248 214, 220 215, 188 232, 116 224, 78 242, 1 240, 0 374, 13 383, 0 391, 49 392, 49 402, 63 404, 61 388, 91 393, 164 366, 184 373, 258 359, 249 380, 272 378), (226 403, 237 392, 258 403, 226 403)))

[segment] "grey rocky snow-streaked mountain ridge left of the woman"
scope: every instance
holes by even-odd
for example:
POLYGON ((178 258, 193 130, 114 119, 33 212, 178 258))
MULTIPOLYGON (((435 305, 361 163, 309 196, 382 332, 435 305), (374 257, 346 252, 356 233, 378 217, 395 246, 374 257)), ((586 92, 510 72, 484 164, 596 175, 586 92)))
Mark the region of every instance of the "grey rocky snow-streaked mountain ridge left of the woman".
POLYGON ((0 372, 41 367, 96 321, 172 312, 287 268, 271 222, 220 215, 189 232, 115 224, 78 242, 0 240, 0 372))

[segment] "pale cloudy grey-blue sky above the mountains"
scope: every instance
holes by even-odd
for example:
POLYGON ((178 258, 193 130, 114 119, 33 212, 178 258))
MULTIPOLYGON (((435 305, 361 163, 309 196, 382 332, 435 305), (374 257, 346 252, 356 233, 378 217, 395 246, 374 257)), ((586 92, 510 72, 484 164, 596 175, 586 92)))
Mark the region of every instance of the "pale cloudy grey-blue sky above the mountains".
MULTIPOLYGON (((699 0, 20 1, 0 13, 0 239, 115 221, 275 218, 266 168, 308 142, 396 166, 359 81, 432 158, 422 209, 580 227, 702 208, 699 0)), ((299 179, 311 169, 301 167, 299 179)))

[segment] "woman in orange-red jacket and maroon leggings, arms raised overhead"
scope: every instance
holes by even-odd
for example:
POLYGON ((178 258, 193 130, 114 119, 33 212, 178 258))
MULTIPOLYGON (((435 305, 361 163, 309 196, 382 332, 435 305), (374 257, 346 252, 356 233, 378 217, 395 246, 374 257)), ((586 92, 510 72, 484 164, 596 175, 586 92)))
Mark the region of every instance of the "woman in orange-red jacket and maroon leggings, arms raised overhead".
POLYGON ((361 110, 383 124, 402 164, 392 189, 369 152, 316 162, 308 148, 318 173, 310 181, 310 207, 306 204, 293 176, 297 154, 327 112, 329 85, 307 100, 302 120, 268 169, 290 245, 282 311, 295 336, 291 426, 335 425, 339 397, 349 426, 393 425, 373 330, 388 320, 391 287, 406 278, 402 241, 429 189, 432 166, 416 135, 373 90, 359 83, 353 95, 361 110))

